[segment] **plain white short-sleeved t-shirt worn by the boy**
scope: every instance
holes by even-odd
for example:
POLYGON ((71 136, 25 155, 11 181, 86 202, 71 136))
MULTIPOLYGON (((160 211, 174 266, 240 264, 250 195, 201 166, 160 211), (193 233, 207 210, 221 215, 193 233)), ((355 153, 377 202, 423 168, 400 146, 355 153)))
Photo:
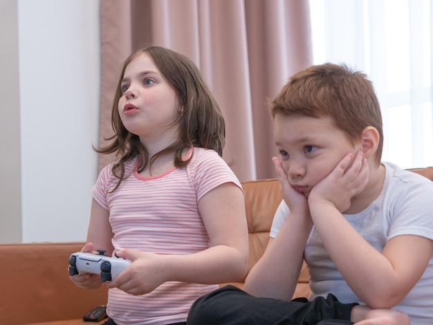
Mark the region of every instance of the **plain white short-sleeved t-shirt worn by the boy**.
MULTIPOLYGON (((433 182, 394 164, 383 165, 385 182, 378 198, 364 211, 344 217, 379 252, 389 239, 403 234, 433 240, 433 182)), ((277 235, 289 212, 282 201, 275 212, 271 237, 277 235)), ((310 299, 333 293, 344 303, 361 302, 338 272, 314 227, 304 258, 310 274, 310 299)), ((394 308, 407 313, 411 324, 433 324, 433 257, 418 283, 394 308)))

